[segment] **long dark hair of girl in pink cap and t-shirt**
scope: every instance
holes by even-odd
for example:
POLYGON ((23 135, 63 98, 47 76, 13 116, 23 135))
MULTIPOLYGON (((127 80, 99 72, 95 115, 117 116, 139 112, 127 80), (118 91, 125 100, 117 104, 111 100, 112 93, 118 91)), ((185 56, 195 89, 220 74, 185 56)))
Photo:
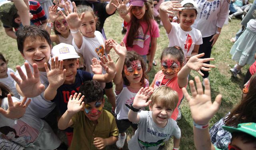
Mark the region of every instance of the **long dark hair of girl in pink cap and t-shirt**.
MULTIPOLYGON (((146 21, 147 23, 147 30, 144 34, 144 38, 146 36, 146 33, 148 32, 148 30, 150 31, 150 37, 152 35, 151 33, 151 21, 153 20, 153 13, 150 9, 150 3, 149 2, 144 2, 144 5, 146 6, 147 10, 145 11, 145 14, 143 16, 143 20, 146 21)), ((130 26, 130 30, 127 33, 127 42, 126 42, 126 46, 132 47, 133 46, 133 41, 135 40, 135 37, 138 36, 138 29, 140 27, 140 20, 137 19, 133 14, 132 14, 132 9, 130 10, 130 14, 131 14, 131 26, 130 26)))

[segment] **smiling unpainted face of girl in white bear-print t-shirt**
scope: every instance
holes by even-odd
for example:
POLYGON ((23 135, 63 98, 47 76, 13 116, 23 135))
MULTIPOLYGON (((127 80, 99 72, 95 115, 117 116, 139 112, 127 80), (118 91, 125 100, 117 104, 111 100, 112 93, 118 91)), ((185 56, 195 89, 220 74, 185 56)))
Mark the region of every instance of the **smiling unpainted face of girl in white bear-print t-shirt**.
POLYGON ((96 30, 97 18, 94 18, 92 12, 86 12, 80 26, 80 31, 83 36, 88 38, 94 38, 94 32, 96 30))

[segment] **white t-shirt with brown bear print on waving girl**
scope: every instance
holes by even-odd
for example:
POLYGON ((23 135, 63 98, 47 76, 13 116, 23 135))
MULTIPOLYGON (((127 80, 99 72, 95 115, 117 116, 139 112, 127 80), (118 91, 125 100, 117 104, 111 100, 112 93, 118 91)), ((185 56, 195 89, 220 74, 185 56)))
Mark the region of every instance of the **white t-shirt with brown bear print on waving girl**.
MULTIPOLYGON (((83 36, 83 43, 80 49, 76 46, 74 39, 72 41, 76 51, 83 55, 86 71, 90 73, 93 73, 92 67, 90 66, 92 64, 92 58, 97 58, 99 60, 103 55, 107 57, 105 51, 105 40, 102 34, 99 31, 95 31, 94 35, 94 38, 83 36)), ((102 74, 106 74, 106 71, 103 68, 102 74)))

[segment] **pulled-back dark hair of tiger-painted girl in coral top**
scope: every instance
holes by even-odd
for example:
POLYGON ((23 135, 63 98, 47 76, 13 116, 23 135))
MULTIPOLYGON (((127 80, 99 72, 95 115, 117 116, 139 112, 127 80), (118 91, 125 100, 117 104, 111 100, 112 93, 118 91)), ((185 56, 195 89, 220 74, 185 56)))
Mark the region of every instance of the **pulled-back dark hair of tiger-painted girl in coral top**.
POLYGON ((184 62, 184 52, 179 46, 164 48, 160 61, 162 62, 162 58, 167 55, 171 55, 172 57, 177 58, 177 60, 180 62, 180 65, 182 65, 184 62))

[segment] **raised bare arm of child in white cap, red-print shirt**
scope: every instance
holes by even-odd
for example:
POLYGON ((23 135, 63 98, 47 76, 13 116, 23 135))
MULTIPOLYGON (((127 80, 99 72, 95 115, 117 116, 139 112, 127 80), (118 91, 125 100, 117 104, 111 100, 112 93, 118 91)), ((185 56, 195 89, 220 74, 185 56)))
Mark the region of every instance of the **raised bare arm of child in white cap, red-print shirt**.
POLYGON ((172 11, 181 11, 178 9, 180 7, 182 6, 178 1, 166 1, 160 5, 159 14, 167 34, 172 30, 172 24, 169 20, 168 13, 173 14, 172 11))

